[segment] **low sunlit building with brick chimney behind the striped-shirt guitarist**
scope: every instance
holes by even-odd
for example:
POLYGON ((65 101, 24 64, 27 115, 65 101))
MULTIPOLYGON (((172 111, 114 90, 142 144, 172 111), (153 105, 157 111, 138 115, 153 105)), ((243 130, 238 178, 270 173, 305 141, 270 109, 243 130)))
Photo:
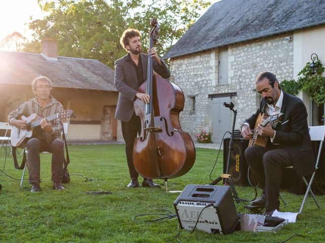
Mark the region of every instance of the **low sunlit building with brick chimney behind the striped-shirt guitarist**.
POLYGON ((98 60, 58 57, 57 42, 49 38, 42 41, 41 54, 0 52, 0 121, 35 97, 30 84, 41 75, 52 80, 51 95, 64 109, 74 110, 68 140, 123 139, 114 118, 114 71, 98 60))

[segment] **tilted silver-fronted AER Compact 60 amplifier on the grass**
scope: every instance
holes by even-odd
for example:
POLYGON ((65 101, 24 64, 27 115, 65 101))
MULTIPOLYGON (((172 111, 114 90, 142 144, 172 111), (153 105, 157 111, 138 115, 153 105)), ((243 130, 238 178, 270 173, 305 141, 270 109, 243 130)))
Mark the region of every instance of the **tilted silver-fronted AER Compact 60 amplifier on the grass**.
POLYGON ((189 231, 197 221, 196 229, 213 234, 232 233, 238 224, 229 186, 187 185, 175 200, 174 207, 182 229, 189 231), (212 206, 205 208, 211 203, 212 206))

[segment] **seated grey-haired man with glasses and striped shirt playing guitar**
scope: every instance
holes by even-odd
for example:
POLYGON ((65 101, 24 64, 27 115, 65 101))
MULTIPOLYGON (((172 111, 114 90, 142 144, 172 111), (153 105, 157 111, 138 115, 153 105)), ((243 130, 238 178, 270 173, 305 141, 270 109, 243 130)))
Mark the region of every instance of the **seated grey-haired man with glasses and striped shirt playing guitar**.
MULTIPOLYGON (((18 128, 18 131, 27 130, 26 120, 22 119, 22 116, 29 116, 36 113, 40 117, 47 117, 63 111, 62 104, 50 96, 52 82, 49 78, 40 76, 34 79, 31 83, 31 88, 36 97, 20 105, 17 110, 12 111, 8 116, 9 124, 18 128)), ((37 118, 39 119, 40 117, 37 118)), ((47 121, 45 118, 43 118, 40 125, 41 127, 36 127, 32 130, 31 138, 25 139, 21 143, 22 146, 26 146, 28 150, 27 161, 29 183, 32 184, 30 191, 37 192, 41 190, 40 152, 43 151, 53 153, 53 189, 63 190, 64 187, 61 185, 61 181, 64 163, 64 150, 63 140, 61 139, 61 120, 60 118, 57 118, 52 121, 47 121)))

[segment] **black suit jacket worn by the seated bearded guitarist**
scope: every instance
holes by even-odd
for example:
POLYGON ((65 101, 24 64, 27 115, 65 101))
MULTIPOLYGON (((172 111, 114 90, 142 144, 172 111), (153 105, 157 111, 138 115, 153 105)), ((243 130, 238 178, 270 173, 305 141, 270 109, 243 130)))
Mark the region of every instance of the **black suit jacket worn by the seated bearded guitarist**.
MULTIPOLYGON (((250 129, 254 128, 256 117, 259 113, 264 113, 266 105, 263 99, 256 113, 245 120, 250 129)), ((301 99, 283 92, 281 112, 284 113, 282 124, 278 124, 275 128, 273 143, 280 144, 289 152, 298 175, 308 175, 315 170, 315 159, 310 142, 306 107, 301 99)))

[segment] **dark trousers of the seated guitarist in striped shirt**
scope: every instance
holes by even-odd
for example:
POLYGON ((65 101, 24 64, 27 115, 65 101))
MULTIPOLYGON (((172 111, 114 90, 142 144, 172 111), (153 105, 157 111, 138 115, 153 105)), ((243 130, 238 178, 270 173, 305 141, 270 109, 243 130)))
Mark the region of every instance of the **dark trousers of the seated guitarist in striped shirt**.
POLYGON ((27 150, 29 183, 41 182, 40 152, 44 151, 52 153, 52 181, 62 181, 64 148, 63 140, 61 138, 55 138, 49 143, 38 138, 31 138, 27 142, 27 150))

